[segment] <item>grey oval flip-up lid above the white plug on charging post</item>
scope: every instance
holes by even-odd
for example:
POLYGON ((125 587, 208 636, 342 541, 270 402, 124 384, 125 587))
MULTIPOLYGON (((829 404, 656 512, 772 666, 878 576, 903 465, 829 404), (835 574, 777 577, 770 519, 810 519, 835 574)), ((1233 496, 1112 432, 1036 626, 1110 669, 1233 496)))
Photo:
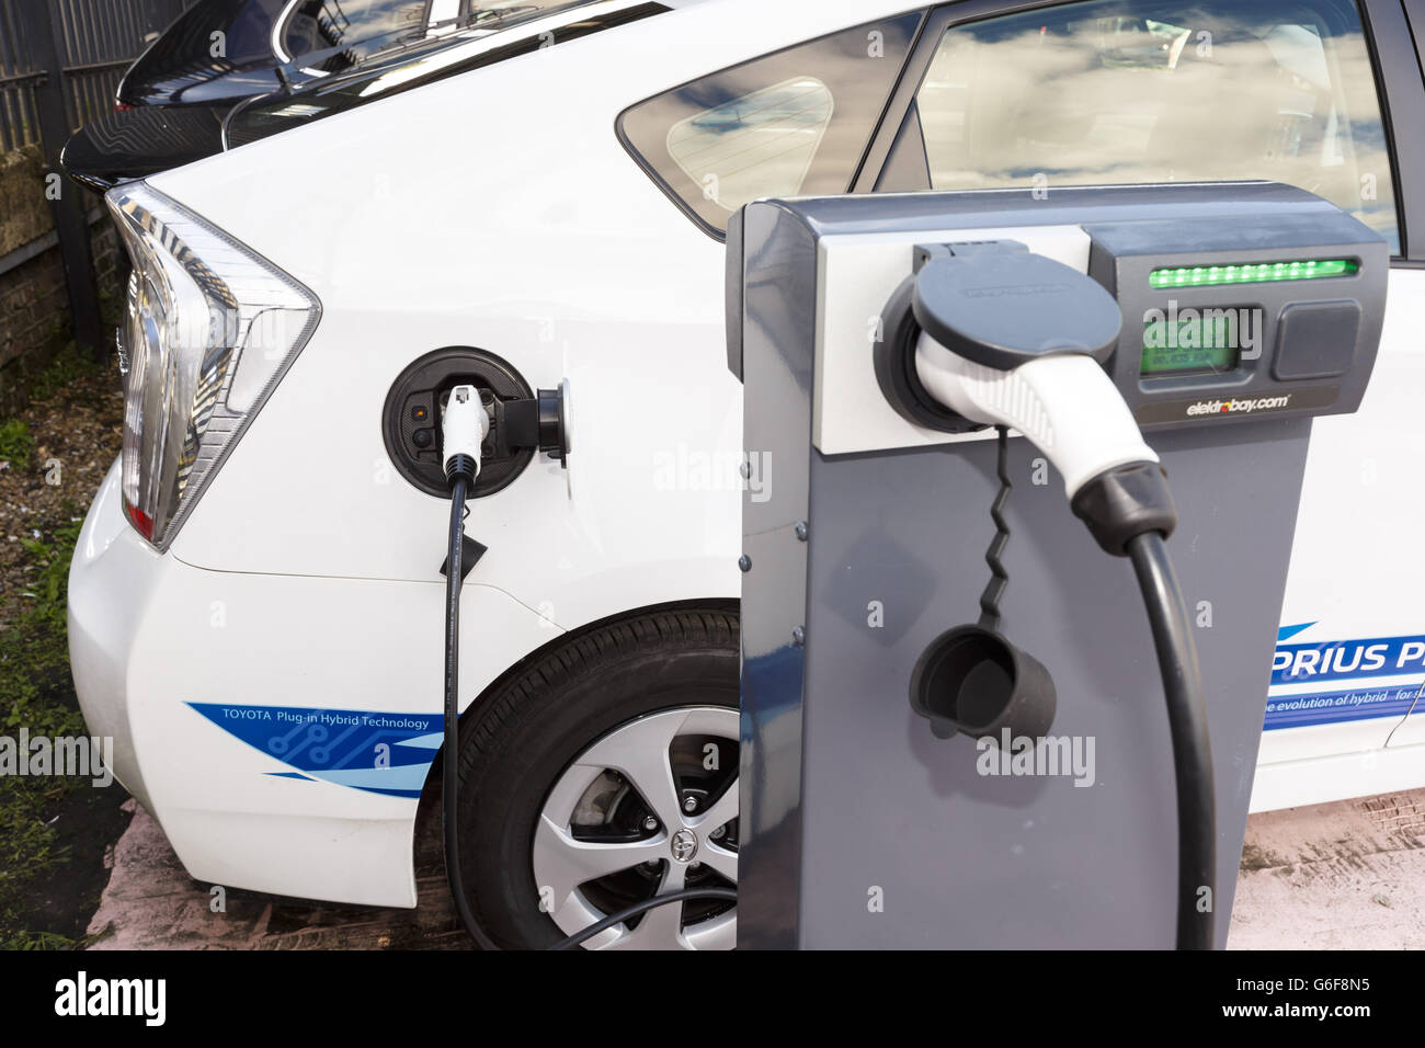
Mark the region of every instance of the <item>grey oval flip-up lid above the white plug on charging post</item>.
POLYGON ((952 354, 999 371, 1050 354, 1106 361, 1123 325, 1113 295, 1063 262, 1015 247, 952 254, 950 245, 931 257, 915 278, 916 322, 952 354))

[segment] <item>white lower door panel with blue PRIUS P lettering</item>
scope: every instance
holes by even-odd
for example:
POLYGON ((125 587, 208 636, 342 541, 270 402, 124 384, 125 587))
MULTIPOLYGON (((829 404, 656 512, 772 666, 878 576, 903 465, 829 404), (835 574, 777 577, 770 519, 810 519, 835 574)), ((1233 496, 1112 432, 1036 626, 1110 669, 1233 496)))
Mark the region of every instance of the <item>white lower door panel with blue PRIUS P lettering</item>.
POLYGON ((1282 644, 1345 642, 1349 663, 1351 642, 1415 637, 1419 653, 1396 664, 1416 650, 1402 640, 1382 652, 1387 664, 1381 669, 1391 673, 1302 673, 1297 683, 1273 683, 1271 706, 1331 694, 1330 702, 1345 709, 1281 714, 1268 709, 1253 811, 1425 783, 1425 636, 1419 636, 1425 616, 1419 610, 1416 552, 1425 512, 1422 324, 1425 272, 1392 269, 1381 349, 1359 411, 1311 423, 1281 610, 1282 633, 1307 625, 1282 644), (1381 710, 1398 711, 1377 716, 1381 710), (1314 723, 1274 727, 1274 716, 1284 716, 1285 723, 1314 723))

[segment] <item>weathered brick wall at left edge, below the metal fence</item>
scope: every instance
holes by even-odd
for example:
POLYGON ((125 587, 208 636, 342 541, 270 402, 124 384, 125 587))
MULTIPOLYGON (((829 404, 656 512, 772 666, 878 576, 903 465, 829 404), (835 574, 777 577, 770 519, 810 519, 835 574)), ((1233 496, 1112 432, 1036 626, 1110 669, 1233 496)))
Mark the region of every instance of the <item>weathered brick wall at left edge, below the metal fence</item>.
MULTIPOLYGON (((66 181, 61 191, 80 190, 66 181)), ((87 202, 98 200, 87 195, 87 202)), ((24 404, 36 375, 70 341, 64 264, 53 241, 38 151, 0 155, 0 267, 9 262, 0 271, 0 418, 24 404)), ((91 224, 90 244, 100 298, 113 315, 123 302, 128 262, 108 215, 91 224)))

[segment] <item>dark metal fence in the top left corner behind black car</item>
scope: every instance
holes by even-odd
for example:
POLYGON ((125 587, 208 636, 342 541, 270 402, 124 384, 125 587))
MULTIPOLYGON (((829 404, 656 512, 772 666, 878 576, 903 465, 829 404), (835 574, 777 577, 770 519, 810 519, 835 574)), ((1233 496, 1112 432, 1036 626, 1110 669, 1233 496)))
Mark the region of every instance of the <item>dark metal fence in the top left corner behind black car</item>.
POLYGON ((0 151, 41 141, 36 90, 54 64, 70 131, 113 110, 124 70, 194 1, 0 0, 0 151), (47 19, 48 33, 38 19, 47 19), (53 38, 54 58, 44 37, 53 38))

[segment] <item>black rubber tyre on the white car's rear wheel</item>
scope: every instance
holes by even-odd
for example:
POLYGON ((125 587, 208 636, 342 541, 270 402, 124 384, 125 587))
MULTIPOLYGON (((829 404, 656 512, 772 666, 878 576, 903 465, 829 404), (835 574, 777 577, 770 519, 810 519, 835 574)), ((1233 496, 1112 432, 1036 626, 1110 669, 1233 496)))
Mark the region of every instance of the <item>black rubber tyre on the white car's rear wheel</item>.
MULTIPOLYGON (((708 817, 721 817, 728 804, 737 803, 737 613, 648 612, 598 626, 536 659, 499 683, 460 724, 462 874, 470 907, 490 937, 507 950, 540 950, 638 901, 640 893, 650 897, 695 883, 735 887, 735 813, 731 823, 698 830, 717 837, 698 838, 705 864, 697 857, 673 858, 687 850, 690 831, 683 833, 678 844, 674 841, 678 827, 670 824, 684 818, 697 821, 695 816, 678 814, 687 806, 703 804, 708 817), (660 798, 661 820, 653 816, 643 796, 653 796, 656 788, 634 787, 631 773, 626 777, 617 770, 590 771, 593 764, 581 760, 590 754, 618 759, 638 749, 630 749, 630 740, 641 743, 644 737, 654 744, 638 753, 656 754, 657 736, 651 733, 675 724, 683 726, 677 729, 681 734, 668 750, 674 754, 670 764, 678 791, 667 790, 660 798), (724 743, 728 730, 731 751, 724 743), (596 743, 598 749, 591 750, 596 743), (703 754, 701 764, 690 764, 694 759, 690 754, 703 754), (710 771, 708 764, 717 767, 710 771), (589 776, 596 777, 579 793, 589 776), (576 793, 584 800, 573 808, 569 823, 560 826, 563 816, 549 806, 563 806, 563 811, 576 793), (650 828, 650 818, 658 821, 657 830, 650 828), (620 848, 633 841, 627 847, 640 848, 640 858, 653 858, 584 883, 573 894, 566 893, 564 881, 570 878, 561 874, 554 878, 559 888, 542 887, 536 883, 536 860, 549 870, 551 857, 583 854, 560 850, 566 837, 613 841, 620 848), (678 847, 670 851, 674 844, 678 847), (728 851, 734 853, 731 860, 728 851), (654 863, 661 865, 654 870, 654 863), (724 873, 731 873, 731 884, 724 873)), ((554 865, 557 873, 583 870, 557 861, 554 865)), ((658 941, 670 948, 714 942, 707 930, 717 930, 715 944, 727 945, 730 924, 735 935, 735 910, 730 903, 675 903, 650 913, 660 911, 667 911, 660 914, 661 925, 643 925, 648 917, 636 918, 589 945, 638 945, 640 940, 650 945, 656 930, 664 933, 658 941), (687 937, 678 931, 680 911, 687 937), (667 935, 670 921, 673 937, 667 935), (638 927, 643 935, 634 934, 638 927)))

